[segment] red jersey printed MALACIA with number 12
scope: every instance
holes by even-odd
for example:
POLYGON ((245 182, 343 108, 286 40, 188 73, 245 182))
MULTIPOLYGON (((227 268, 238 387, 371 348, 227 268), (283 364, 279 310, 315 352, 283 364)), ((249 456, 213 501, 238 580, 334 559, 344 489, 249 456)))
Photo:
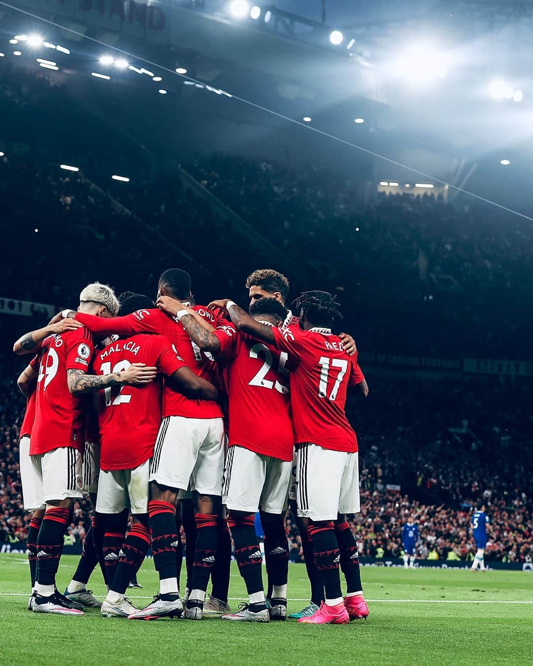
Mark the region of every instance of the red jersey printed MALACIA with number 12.
MULTIPOLYGON (((95 374, 127 370, 132 363, 155 366, 170 376, 185 368, 167 338, 135 335, 97 350, 95 374)), ((145 386, 112 386, 100 392, 100 466, 103 470, 132 470, 153 456, 161 426, 163 378, 145 386)))

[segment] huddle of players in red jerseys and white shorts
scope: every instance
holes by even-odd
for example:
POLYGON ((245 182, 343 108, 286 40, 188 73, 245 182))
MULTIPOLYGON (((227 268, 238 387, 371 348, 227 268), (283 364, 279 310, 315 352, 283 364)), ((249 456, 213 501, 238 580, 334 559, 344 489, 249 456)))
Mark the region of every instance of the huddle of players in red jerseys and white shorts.
POLYGON ((344 414, 346 390, 356 385, 368 394, 353 341, 331 332, 340 313, 330 294, 302 294, 294 302, 298 319, 284 307, 288 281, 278 272, 255 271, 247 287, 250 314, 231 300, 205 308, 194 304, 189 276, 171 269, 159 280, 157 308, 133 294, 116 317, 119 304, 112 290, 93 284, 81 293, 77 312, 63 311, 51 325, 15 343, 18 353, 37 352, 21 376, 31 386, 38 374, 21 430, 21 438, 29 438, 24 464, 21 442, 25 507, 40 509, 28 536, 33 611, 81 614, 74 603, 99 605, 86 584, 96 565, 94 553, 100 552, 109 587, 101 605, 106 617, 202 619, 205 613, 235 621, 285 619, 289 490, 312 586, 311 603, 295 614, 298 621, 344 624, 368 615, 356 542, 346 522, 346 513, 359 511, 358 447, 344 414), (93 336, 109 335, 116 337, 95 349, 93 336), (96 548, 92 555, 84 549, 61 595, 55 574, 63 533, 84 480, 91 481, 88 468, 97 465, 97 447, 84 452, 85 394, 91 393, 99 403, 101 448, 97 520, 91 527, 96 548), (33 496, 27 491, 31 484, 33 496), (176 507, 190 504, 189 497, 196 540, 182 600, 176 507), (133 526, 125 536, 129 509, 133 526), (265 533, 266 596, 254 527, 258 510, 265 533), (221 569, 229 572, 226 525, 249 593, 249 603, 237 613, 227 605, 229 575, 225 593, 205 601, 217 559, 227 561, 221 569), (102 532, 103 547, 97 536, 102 532), (137 609, 125 591, 149 545, 159 594, 137 609), (339 565, 346 579, 344 598, 339 565))

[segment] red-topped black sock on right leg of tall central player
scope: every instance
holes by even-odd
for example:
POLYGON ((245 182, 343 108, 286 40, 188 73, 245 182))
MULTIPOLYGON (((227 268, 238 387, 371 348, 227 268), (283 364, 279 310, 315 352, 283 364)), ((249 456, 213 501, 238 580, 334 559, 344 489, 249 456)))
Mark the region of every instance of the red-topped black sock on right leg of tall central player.
POLYGON ((209 575, 215 564, 215 554, 219 542, 216 513, 196 514, 196 549, 193 565, 193 582, 189 593, 188 607, 203 604, 209 575))

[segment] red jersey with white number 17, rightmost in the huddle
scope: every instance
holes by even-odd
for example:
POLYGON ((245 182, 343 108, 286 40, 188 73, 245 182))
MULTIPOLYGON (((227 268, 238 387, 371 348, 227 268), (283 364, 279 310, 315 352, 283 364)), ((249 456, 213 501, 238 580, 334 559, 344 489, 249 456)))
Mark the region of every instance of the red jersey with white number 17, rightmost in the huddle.
POLYGON ((276 347, 289 355, 290 402, 296 443, 333 451, 357 451, 344 413, 346 388, 364 380, 357 354, 348 356, 328 328, 273 328, 276 347))

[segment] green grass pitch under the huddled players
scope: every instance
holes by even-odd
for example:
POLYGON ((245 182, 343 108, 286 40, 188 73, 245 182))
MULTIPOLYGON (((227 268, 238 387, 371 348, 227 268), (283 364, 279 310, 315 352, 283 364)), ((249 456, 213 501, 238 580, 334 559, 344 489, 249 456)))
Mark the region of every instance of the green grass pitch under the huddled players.
MULTIPOLYGON (((76 564, 77 557, 61 559, 61 591, 76 564)), ((230 603, 237 609, 246 595, 232 567, 230 603)), ((1 666, 533 663, 532 573, 363 567, 370 617, 322 627, 296 621, 129 621, 104 619, 95 610, 84 617, 38 615, 27 610, 28 578, 23 555, 0 555, 1 666)), ((139 581, 143 589, 129 596, 142 607, 157 591, 151 560, 139 581)), ((105 593, 98 570, 89 587, 105 593)), ((303 565, 289 567, 288 589, 289 611, 305 605, 303 565)))

